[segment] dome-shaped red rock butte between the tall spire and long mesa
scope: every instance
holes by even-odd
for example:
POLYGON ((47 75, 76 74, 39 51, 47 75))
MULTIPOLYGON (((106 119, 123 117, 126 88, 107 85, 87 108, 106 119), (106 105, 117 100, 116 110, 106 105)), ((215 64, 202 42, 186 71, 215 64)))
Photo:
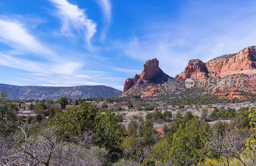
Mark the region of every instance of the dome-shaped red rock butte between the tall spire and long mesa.
POLYGON ((181 77, 184 79, 187 78, 196 78, 196 79, 204 79, 208 78, 208 70, 204 62, 200 59, 193 59, 188 61, 188 65, 185 67, 184 72, 176 75, 175 78, 181 77))

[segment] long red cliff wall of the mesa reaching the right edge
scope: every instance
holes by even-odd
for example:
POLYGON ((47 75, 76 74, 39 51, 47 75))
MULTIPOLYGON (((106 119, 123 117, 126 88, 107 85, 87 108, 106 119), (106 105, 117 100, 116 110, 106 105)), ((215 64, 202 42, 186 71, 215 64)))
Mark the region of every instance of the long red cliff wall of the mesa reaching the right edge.
POLYGON ((246 47, 232 57, 217 57, 206 63, 208 71, 220 74, 221 77, 236 74, 239 70, 255 69, 256 67, 256 46, 246 47))

